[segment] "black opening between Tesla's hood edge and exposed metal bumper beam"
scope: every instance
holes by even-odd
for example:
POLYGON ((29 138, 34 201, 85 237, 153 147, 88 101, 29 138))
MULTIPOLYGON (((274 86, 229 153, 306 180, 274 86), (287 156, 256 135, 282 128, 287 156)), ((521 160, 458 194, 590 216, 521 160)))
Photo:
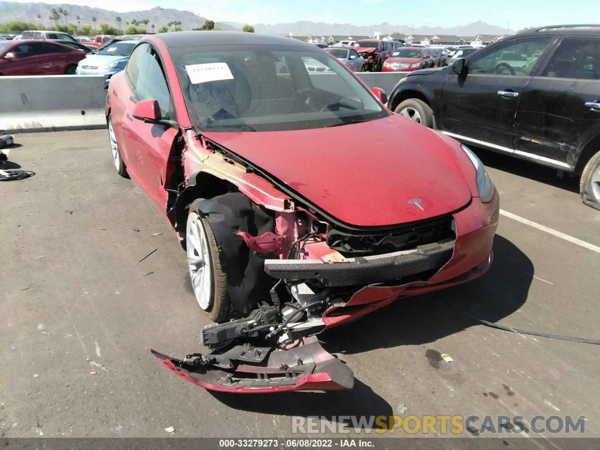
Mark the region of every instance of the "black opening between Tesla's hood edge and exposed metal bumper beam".
POLYGON ((453 222, 452 214, 448 214, 378 232, 343 232, 332 229, 327 234, 327 244, 345 257, 410 250, 419 245, 456 238, 453 222))

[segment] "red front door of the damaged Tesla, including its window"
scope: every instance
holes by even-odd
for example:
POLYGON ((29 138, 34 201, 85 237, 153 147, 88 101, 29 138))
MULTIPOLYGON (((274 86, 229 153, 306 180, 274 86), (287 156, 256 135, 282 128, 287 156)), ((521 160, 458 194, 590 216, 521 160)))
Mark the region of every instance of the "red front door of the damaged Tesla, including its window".
POLYGON ((169 155, 179 130, 166 125, 148 124, 133 115, 137 101, 157 100, 163 118, 175 119, 173 102, 160 60, 151 46, 142 44, 136 47, 131 54, 130 64, 132 62, 135 67, 131 67, 125 76, 129 78, 133 98, 123 101, 122 111, 115 112, 121 115, 119 133, 122 138, 118 142, 127 155, 127 159, 124 157, 127 172, 165 214, 167 192, 164 183, 169 155))

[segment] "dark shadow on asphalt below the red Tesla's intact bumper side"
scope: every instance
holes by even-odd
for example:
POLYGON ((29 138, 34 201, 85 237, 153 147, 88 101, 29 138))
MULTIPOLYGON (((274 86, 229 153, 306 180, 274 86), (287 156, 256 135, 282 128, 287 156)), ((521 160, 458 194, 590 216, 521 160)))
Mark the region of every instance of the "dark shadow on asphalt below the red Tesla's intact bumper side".
POLYGON ((483 277, 460 286, 398 298, 364 319, 320 335, 329 353, 420 345, 481 325, 498 322, 527 300, 533 263, 511 241, 494 237, 494 262, 483 277))

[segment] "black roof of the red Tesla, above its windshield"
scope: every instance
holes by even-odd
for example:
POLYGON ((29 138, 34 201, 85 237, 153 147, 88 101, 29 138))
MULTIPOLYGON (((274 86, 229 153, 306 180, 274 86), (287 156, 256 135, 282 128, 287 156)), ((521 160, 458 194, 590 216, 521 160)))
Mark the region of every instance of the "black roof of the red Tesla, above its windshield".
MULTIPOLYGON (((239 31, 178 31, 176 33, 159 33, 155 37, 164 42, 167 48, 192 45, 284 45, 287 47, 306 48, 311 44, 286 37, 266 34, 242 33, 239 31)), ((311 46, 314 48, 314 46, 311 46)))

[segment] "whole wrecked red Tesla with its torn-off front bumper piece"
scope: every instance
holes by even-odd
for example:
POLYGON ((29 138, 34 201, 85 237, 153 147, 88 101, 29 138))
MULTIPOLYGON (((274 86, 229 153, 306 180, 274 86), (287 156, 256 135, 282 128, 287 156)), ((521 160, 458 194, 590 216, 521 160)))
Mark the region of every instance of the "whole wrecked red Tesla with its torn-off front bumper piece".
POLYGON ((205 355, 152 351, 170 370, 218 391, 350 388, 316 334, 490 267, 487 170, 373 91, 315 46, 238 32, 148 36, 112 77, 116 170, 172 225, 215 322, 205 355))

